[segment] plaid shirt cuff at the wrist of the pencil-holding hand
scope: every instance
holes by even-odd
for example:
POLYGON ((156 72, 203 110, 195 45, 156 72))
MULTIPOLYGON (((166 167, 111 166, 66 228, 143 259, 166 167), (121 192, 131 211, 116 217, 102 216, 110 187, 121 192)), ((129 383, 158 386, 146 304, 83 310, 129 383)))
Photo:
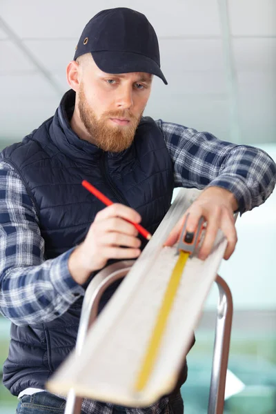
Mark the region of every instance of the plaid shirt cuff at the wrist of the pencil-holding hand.
POLYGON ((85 293, 83 287, 72 278, 68 269, 68 259, 73 250, 75 250, 75 247, 58 256, 52 261, 50 268, 52 285, 57 293, 62 296, 62 299, 68 303, 75 302, 78 297, 85 293))

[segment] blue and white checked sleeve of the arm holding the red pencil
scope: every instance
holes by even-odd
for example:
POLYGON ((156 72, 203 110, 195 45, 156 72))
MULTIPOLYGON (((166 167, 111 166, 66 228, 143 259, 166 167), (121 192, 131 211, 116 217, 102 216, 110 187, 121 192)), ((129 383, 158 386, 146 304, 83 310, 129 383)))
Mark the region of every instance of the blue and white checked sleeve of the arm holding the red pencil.
POLYGON ((0 162, 0 311, 16 325, 49 322, 65 313, 83 288, 72 279, 72 250, 45 260, 37 213, 21 178, 0 162))

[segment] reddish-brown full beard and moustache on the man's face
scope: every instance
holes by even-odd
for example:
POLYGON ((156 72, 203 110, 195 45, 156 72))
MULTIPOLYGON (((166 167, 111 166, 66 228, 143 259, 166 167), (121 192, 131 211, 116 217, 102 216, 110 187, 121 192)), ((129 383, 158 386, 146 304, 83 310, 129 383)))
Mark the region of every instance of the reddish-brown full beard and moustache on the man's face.
POLYGON ((82 83, 79 86, 78 110, 81 121, 91 137, 90 142, 97 145, 103 151, 110 152, 121 152, 130 147, 143 115, 142 112, 139 117, 135 117, 129 111, 114 110, 103 112, 98 119, 84 95, 82 83), (127 118, 130 119, 130 122, 125 126, 116 124, 112 126, 109 125, 111 124, 110 118, 127 118))

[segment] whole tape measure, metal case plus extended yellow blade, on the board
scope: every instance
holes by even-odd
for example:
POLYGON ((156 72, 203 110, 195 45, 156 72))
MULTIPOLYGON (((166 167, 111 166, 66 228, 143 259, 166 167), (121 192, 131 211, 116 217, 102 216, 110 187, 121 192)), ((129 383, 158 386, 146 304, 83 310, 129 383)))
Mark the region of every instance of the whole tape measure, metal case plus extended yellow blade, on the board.
POLYGON ((163 302, 157 315, 157 322, 155 324, 155 328, 153 329, 152 336, 150 337, 150 342, 148 344, 144 360, 141 364, 141 369, 139 371, 137 381, 135 382, 135 391, 143 391, 146 384, 148 383, 150 374, 152 373, 152 369, 157 359, 159 346, 161 344, 161 339, 166 328, 168 317, 170 315, 170 310, 177 294, 181 275, 184 271, 188 257, 195 253, 197 245, 200 241, 201 231, 204 227, 204 217, 201 217, 199 219, 199 224, 195 233, 186 232, 187 219, 188 215, 186 217, 179 239, 179 258, 175 264, 174 269, 172 270, 172 275, 168 282, 163 302))

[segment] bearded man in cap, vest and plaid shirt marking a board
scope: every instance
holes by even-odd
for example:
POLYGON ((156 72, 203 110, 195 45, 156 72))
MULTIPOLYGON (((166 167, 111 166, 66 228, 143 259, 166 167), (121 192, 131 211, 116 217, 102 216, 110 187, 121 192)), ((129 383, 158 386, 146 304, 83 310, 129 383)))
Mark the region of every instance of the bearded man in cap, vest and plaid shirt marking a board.
MULTIPOLYGON (((1 154, 0 306, 12 322, 3 382, 19 397, 17 413, 63 412, 65 400, 43 392, 44 384, 75 346, 91 277, 108 261, 133 259, 144 248, 126 219, 154 233, 175 187, 205 188, 188 210, 188 231, 204 215, 200 258, 221 228, 228 259, 237 242, 233 212, 259 206, 275 186, 275 164, 262 150, 142 117, 153 75, 166 83, 144 14, 99 12, 68 64, 71 89, 54 117, 1 154), (82 188, 83 179, 115 204, 104 208, 82 188)), ((91 400, 82 406, 82 413, 112 411, 131 409, 91 400)), ((179 389, 135 410, 153 411, 183 412, 179 389)))

